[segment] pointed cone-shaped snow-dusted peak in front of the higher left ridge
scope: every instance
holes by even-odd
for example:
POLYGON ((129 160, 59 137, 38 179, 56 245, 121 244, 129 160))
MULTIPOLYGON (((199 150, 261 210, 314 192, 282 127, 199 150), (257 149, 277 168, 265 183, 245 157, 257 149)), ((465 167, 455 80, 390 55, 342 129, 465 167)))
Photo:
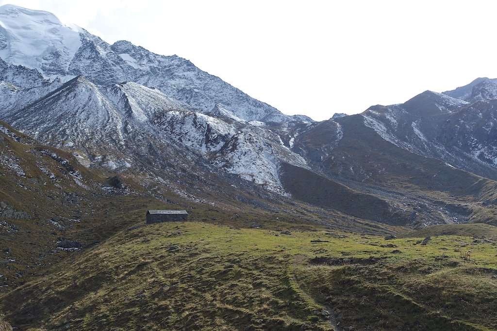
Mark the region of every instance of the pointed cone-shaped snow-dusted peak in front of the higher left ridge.
POLYGON ((82 76, 6 119, 53 145, 61 146, 68 140, 75 144, 89 140, 104 144, 108 141, 122 143, 124 140, 118 112, 98 87, 82 76))

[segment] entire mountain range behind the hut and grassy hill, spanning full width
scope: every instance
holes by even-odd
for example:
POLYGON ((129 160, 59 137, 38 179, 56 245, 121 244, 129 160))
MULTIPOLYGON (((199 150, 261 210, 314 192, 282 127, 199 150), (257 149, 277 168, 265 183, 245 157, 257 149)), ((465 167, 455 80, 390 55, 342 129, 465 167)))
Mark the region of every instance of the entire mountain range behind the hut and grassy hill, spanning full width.
POLYGON ((45 11, 4 5, 0 23, 0 119, 87 169, 213 205, 249 192, 389 224, 497 224, 497 79, 315 122, 45 11))

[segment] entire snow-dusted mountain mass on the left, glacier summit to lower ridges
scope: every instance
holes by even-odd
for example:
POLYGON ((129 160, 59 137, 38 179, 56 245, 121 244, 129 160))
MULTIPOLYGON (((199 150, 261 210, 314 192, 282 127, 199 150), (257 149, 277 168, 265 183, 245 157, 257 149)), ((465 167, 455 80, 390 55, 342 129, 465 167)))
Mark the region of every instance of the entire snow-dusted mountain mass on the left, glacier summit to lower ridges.
POLYGON ((280 160, 306 165, 259 126, 309 118, 284 115, 187 60, 126 41, 109 45, 44 11, 4 5, 0 22, 2 118, 40 141, 83 151, 86 164, 130 167, 139 162, 129 155, 154 141, 158 154, 187 148, 281 194, 280 160))

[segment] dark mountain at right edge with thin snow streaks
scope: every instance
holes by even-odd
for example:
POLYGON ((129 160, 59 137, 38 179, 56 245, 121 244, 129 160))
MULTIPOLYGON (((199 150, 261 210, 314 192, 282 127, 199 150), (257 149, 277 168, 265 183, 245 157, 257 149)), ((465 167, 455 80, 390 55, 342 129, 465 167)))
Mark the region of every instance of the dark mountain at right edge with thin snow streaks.
POLYGON ((485 79, 471 93, 425 91, 404 104, 373 106, 362 113, 364 124, 403 149, 495 179, 494 85, 485 79))

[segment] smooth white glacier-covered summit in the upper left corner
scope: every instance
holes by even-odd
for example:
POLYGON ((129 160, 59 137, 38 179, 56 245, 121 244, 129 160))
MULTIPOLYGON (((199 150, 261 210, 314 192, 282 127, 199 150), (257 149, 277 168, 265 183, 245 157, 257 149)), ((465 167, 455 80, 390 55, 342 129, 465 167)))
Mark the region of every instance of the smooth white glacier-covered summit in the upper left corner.
POLYGON ((6 4, 0 7, 0 58, 40 68, 46 76, 60 75, 81 46, 81 31, 52 13, 6 4))

